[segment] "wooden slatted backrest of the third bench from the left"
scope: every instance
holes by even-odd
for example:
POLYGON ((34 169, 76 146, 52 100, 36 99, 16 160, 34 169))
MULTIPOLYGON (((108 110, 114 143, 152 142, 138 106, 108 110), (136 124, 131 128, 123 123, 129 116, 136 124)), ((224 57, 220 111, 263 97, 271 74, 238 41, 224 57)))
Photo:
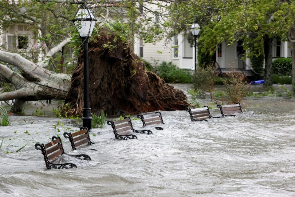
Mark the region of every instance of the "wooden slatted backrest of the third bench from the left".
POLYGON ((133 126, 129 117, 124 117, 123 120, 108 120, 107 124, 112 126, 116 139, 118 139, 118 135, 133 133, 133 126))

